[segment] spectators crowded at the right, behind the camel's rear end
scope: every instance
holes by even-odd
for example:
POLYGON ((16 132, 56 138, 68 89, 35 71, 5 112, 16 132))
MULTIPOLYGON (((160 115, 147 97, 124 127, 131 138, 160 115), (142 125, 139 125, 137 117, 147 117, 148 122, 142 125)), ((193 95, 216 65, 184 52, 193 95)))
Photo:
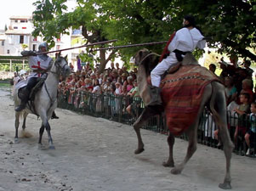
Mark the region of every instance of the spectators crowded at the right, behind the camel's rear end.
MULTIPOLYGON (((249 60, 244 60, 240 65, 237 61, 236 56, 230 57, 229 63, 223 59, 219 61, 221 69, 219 80, 225 85, 230 136, 236 149, 243 147, 243 150, 247 150, 245 154, 251 155, 255 154, 256 148, 255 87, 253 91, 255 76, 249 60)), ((209 65, 209 70, 214 73, 216 65, 209 65)), ((214 137, 218 138, 219 131, 216 127, 214 130, 214 137)))

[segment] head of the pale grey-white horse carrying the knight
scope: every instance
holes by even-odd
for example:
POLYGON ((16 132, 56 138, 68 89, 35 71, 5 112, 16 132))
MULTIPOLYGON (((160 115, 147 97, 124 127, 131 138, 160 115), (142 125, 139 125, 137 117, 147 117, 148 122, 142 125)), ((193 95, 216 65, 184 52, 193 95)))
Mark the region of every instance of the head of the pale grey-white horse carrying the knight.
POLYGON ((56 67, 56 73, 63 76, 64 78, 66 76, 69 76, 71 73, 71 69, 67 63, 67 55, 65 57, 60 56, 60 53, 58 53, 57 58, 54 62, 54 66, 56 67))

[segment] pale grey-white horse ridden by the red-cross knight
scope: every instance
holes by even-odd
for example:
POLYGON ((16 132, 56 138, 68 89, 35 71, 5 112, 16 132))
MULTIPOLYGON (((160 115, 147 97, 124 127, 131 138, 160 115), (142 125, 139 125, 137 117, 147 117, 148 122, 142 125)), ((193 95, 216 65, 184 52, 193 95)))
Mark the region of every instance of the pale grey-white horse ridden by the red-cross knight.
MULTIPOLYGON (((26 116, 28 114, 35 114, 39 115, 42 120, 42 126, 39 131, 39 141, 38 141, 38 148, 43 149, 42 144, 42 137, 44 128, 48 133, 48 143, 49 149, 54 149, 54 143, 51 136, 51 128, 49 126, 48 120, 52 116, 54 110, 57 107, 57 88, 60 80, 60 75, 65 78, 70 74, 71 70, 68 66, 66 61, 66 56, 61 57, 60 53, 58 54, 57 59, 55 60, 54 64, 49 66, 48 70, 48 77, 43 83, 43 87, 38 90, 35 95, 34 104, 35 104, 35 111, 32 111, 28 104, 26 104, 26 109, 20 112, 15 111, 15 143, 18 143, 18 128, 20 125, 20 115, 23 115, 23 126, 22 129, 25 130, 26 128, 26 116)), ((19 86, 15 87, 14 90, 14 106, 20 104, 20 98, 18 96, 19 86)), ((30 102, 30 101, 29 101, 30 102)))

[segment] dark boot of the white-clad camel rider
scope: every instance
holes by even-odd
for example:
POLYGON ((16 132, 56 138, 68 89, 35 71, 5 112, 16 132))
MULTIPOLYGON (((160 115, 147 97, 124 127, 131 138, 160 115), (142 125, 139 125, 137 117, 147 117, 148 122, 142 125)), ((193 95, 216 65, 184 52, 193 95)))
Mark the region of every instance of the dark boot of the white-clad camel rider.
POLYGON ((149 93, 151 94, 151 101, 145 106, 145 108, 151 108, 151 110, 157 110, 159 113, 163 111, 161 88, 149 86, 149 93))

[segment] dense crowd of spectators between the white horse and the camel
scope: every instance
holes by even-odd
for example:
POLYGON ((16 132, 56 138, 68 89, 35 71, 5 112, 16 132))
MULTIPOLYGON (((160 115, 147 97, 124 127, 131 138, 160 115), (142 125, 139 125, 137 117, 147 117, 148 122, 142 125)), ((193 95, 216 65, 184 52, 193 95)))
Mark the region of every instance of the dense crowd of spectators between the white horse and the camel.
POLYGON ((135 120, 132 105, 133 98, 139 97, 137 69, 128 71, 124 65, 120 68, 118 63, 115 65, 112 62, 111 67, 100 73, 99 67, 100 65, 95 65, 94 68, 85 65, 82 70, 72 72, 65 80, 60 79, 59 93, 66 95, 68 104, 74 104, 77 108, 88 106, 84 95, 94 93, 93 103, 90 104, 96 104, 96 111, 100 111, 102 105, 109 105, 110 115, 128 113, 135 120), (111 95, 112 98, 106 100, 100 95, 111 95))

